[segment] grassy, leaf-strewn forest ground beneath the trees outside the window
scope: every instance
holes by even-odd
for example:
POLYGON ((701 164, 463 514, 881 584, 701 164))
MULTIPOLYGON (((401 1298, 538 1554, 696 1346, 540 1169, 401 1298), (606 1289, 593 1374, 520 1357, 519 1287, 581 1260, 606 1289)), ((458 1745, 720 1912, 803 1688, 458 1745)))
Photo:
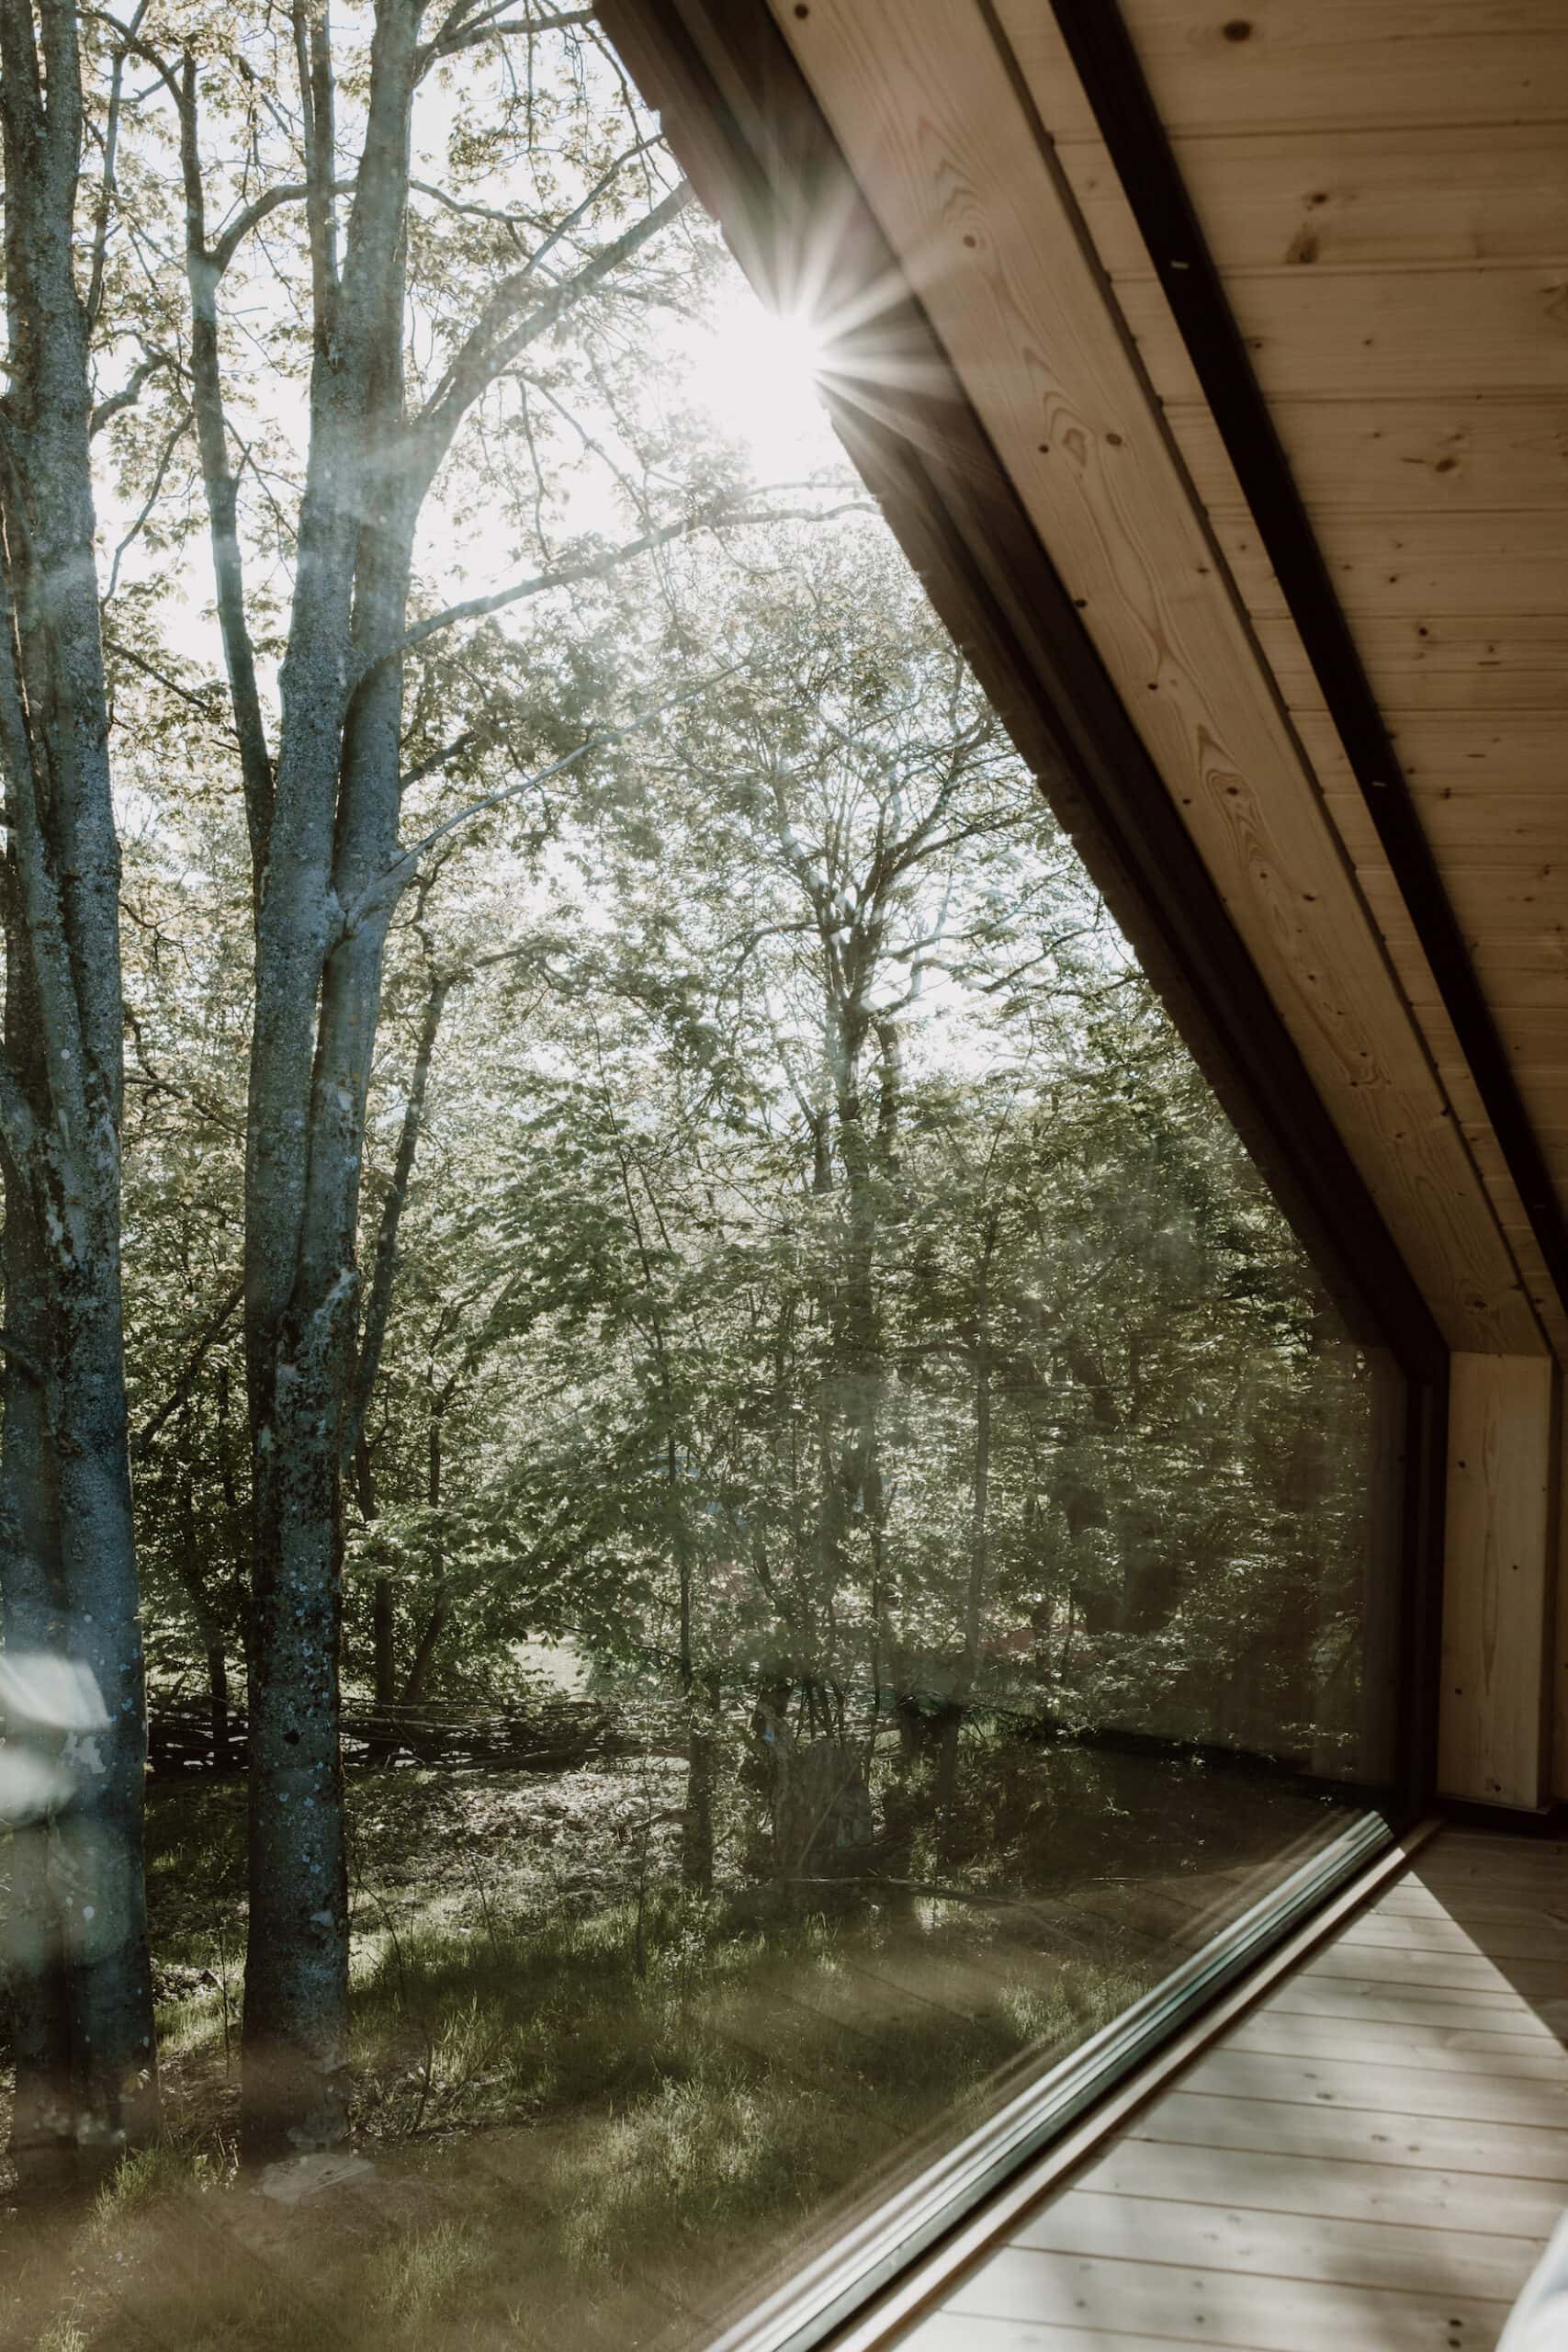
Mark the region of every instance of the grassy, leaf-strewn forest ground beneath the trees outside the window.
POLYGON ((0 2173, 0 2345, 703 2343, 1333 1825, 1229 1773, 1145 1766, 1128 1802, 1126 1759, 1114 1788, 1020 1769, 1006 1867, 823 1910, 733 1856, 679 1893, 675 1759, 357 1773, 357 2154, 261 2180, 235 2164, 244 1790, 158 1792, 167 2138, 47 2223, 0 2173))

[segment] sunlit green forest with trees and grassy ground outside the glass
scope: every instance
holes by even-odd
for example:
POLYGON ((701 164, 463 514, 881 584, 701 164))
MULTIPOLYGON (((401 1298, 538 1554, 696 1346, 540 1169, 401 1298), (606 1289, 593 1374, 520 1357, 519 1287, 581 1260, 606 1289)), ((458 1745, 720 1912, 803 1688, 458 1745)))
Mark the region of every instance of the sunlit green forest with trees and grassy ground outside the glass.
POLYGON ((0 141, 0 2340, 696 2343, 1380 1780, 1392 1376, 590 9, 0 141))

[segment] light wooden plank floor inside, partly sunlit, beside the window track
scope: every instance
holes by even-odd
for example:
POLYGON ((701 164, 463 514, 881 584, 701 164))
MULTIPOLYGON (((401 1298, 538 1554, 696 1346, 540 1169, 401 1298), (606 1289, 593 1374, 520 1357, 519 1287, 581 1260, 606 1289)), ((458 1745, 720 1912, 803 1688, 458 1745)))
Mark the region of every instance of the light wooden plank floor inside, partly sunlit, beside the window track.
POLYGON ((900 2352, 1488 2352, 1568 2204, 1568 1844, 1446 1830, 900 2352))

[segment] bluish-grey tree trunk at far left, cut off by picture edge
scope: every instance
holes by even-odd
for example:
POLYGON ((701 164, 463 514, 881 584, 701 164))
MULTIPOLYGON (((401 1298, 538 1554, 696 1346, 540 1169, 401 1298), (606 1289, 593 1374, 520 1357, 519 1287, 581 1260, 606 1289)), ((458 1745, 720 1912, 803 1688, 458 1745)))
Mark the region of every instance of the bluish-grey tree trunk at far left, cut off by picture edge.
POLYGON ((101 238, 87 252, 78 242, 78 40, 71 5, 45 0, 38 19, 26 0, 0 7, 9 369, 0 412, 0 1602, 12 1731, 31 1731, 63 1776, 12 1851, 24 2178, 49 2176, 78 2152, 113 2152, 158 2119, 120 1303, 120 851, 94 562, 89 341, 103 247, 101 238), (28 1684, 33 1653, 85 1670, 68 1705, 49 1703, 42 1668, 28 1684), (78 1733, 71 1762, 68 1733, 78 1733))

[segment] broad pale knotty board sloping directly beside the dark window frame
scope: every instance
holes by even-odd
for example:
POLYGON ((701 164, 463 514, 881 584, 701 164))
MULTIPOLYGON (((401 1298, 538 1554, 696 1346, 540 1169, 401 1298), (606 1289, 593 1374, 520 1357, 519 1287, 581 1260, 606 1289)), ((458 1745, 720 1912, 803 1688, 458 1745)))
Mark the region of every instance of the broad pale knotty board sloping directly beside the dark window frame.
POLYGON ((978 0, 773 9, 1434 1315, 1453 1345, 1542 1345, 978 0))

